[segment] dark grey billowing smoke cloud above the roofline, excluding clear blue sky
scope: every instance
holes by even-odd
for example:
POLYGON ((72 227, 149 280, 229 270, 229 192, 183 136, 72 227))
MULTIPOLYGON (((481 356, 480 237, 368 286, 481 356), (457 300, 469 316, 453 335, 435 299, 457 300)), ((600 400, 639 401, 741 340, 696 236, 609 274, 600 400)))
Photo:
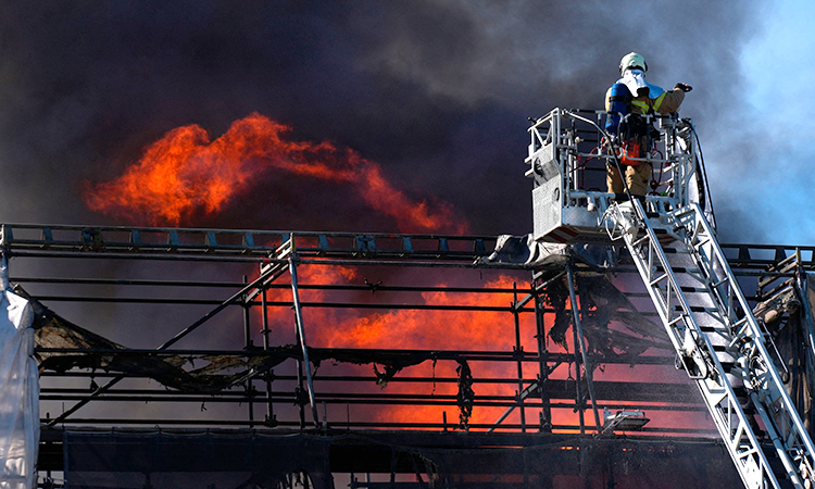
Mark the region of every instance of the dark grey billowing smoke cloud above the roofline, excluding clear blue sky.
MULTIPOLYGON (((695 118, 704 143, 738 117, 730 100, 751 9, 5 2, 0 220, 118 224, 85 206, 82 181, 122 175, 176 127, 197 124, 217 138, 258 112, 291 126, 296 140, 328 140, 376 162, 400 191, 449 202, 473 233, 527 233, 526 117, 600 108, 619 58, 637 50, 651 82, 697 88, 682 115, 695 118)), ((326 205, 353 202, 330 185, 287 184, 198 224, 318 228, 326 205)), ((346 215, 359 216, 349 205, 346 215)), ((383 217, 338 225, 396 227, 383 217)))

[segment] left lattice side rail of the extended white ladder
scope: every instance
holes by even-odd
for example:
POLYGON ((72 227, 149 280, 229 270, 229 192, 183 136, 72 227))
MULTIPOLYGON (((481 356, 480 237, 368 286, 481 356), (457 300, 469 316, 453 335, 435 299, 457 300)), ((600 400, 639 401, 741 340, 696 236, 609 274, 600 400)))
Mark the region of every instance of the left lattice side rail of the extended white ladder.
MULTIPOLYGON (((634 205, 637 208, 639 215, 644 215, 644 211, 639 201, 635 200, 634 205)), ((701 334, 701 329, 695 323, 687 299, 677 284, 667 258, 659 244, 656 233, 650 226, 648 221, 643 221, 643 224, 647 233, 644 238, 637 238, 636 234, 625 234, 624 238, 629 251, 631 252, 635 264, 637 265, 642 278, 647 280, 645 285, 649 294, 656 305, 657 313, 663 319, 663 324, 675 349, 677 350, 677 353, 680 355, 685 353, 686 331, 697 335, 697 338, 702 340, 702 344, 707 348, 709 352, 712 352, 713 348, 707 338, 701 334), (643 240, 644 244, 642 243, 643 240), (638 243, 638 241, 640 242, 638 243), (638 248, 641 247, 648 247, 648 256, 642 256, 642 254, 639 253, 640 250, 638 248), (654 261, 654 258, 656 261, 654 261), (661 280, 652 278, 652 271, 655 268, 653 265, 657 263, 662 266, 665 273, 663 279, 667 280, 664 291, 659 287, 659 281, 661 280), (667 296, 663 297, 663 292, 667 296), (669 315, 670 296, 673 296, 678 302, 676 305, 680 308, 679 315, 681 321, 674 321, 669 315), (679 329, 678 323, 680 322, 685 326, 685 330, 679 329)), ((697 338, 693 339, 695 340, 697 338)), ((724 368, 715 355, 711 354, 709 356, 710 360, 715 363, 719 374, 718 379, 720 381, 716 383, 711 379, 710 376, 706 376, 705 378, 697 378, 694 380, 705 400, 709 411, 711 412, 714 424, 719 430, 719 435, 726 441, 728 453, 734 460, 739 475, 749 488, 763 489, 765 487, 765 480, 769 482, 772 487, 779 488, 778 480, 769 468, 769 462, 766 459, 766 454, 761 450, 757 437, 748 423, 747 415, 739 404, 738 398, 725 375, 724 368)))

